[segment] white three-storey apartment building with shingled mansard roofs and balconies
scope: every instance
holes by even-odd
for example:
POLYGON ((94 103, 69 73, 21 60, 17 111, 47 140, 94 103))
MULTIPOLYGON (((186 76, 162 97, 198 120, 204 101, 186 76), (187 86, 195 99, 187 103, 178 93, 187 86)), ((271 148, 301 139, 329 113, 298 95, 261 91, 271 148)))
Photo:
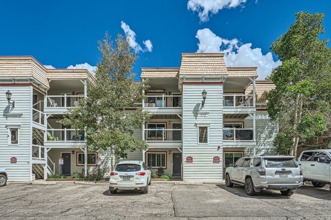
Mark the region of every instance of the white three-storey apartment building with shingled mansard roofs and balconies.
MULTIPOLYGON (((275 154, 277 124, 269 120, 265 99, 275 86, 256 80, 256 69, 226 67, 223 53, 183 53, 179 68, 142 68, 141 80, 151 86, 142 106, 154 115, 134 135, 149 148, 129 152, 128 159, 145 161, 152 173, 162 167, 184 181, 216 182, 242 156, 275 154)), ((101 158, 102 173, 109 175, 113 155, 87 152, 83 132, 57 122, 94 80, 87 70, 46 69, 30 56, 0 57, 0 167, 9 181, 30 181, 32 170, 43 178, 60 173, 59 158, 63 174, 95 172, 101 158), (8 90, 15 108, 6 100, 8 90)))

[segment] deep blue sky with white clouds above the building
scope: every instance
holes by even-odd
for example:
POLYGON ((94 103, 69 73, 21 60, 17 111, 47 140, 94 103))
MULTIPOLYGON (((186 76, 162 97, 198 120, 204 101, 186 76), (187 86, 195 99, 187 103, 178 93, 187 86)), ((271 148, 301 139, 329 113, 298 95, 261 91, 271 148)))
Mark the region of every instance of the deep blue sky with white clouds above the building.
MULTIPOLYGON (((329 0, 3 1, 0 56, 32 55, 48 68, 93 69, 106 31, 130 34, 141 67, 180 67, 180 54, 225 52, 227 66, 258 66, 259 79, 280 64, 270 45, 295 13, 322 13, 331 38, 329 0)), ((329 44, 330 46, 330 44, 329 44)))

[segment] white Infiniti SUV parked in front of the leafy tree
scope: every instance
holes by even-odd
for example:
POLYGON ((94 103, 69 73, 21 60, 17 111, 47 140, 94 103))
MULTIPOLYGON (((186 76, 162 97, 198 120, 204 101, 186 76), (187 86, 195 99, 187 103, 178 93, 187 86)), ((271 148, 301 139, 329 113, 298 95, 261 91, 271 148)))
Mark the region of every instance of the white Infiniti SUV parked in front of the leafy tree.
POLYGON ((119 189, 148 193, 151 184, 151 171, 143 161, 120 161, 110 173, 109 190, 112 194, 119 189))

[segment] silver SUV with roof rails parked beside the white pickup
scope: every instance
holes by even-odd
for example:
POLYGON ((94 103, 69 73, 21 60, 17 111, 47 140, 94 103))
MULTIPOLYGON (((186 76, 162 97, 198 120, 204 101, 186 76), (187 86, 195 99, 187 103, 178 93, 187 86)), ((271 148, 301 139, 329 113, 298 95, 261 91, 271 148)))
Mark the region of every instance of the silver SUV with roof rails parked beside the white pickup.
POLYGON ((279 190, 285 196, 293 195, 303 185, 301 169, 293 156, 248 156, 239 158, 225 170, 225 184, 245 186, 247 195, 261 189, 279 190))

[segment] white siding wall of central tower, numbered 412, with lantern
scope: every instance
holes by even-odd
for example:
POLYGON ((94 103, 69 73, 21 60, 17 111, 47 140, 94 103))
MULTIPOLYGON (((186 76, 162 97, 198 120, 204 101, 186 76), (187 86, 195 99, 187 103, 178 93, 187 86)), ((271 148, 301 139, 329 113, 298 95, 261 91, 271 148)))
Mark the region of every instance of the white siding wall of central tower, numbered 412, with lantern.
MULTIPOLYGON (((183 85, 183 180, 222 181, 222 163, 213 163, 213 157, 223 159, 223 86, 220 84, 183 85), (208 92, 206 104, 201 108, 203 90, 208 92), (197 111, 209 111, 208 117, 197 115, 197 111), (209 144, 198 144, 196 123, 211 123, 209 144), (221 148, 218 148, 221 146, 221 148), (186 157, 193 163, 185 163, 186 157)), ((222 161, 223 162, 223 161, 222 161)))

